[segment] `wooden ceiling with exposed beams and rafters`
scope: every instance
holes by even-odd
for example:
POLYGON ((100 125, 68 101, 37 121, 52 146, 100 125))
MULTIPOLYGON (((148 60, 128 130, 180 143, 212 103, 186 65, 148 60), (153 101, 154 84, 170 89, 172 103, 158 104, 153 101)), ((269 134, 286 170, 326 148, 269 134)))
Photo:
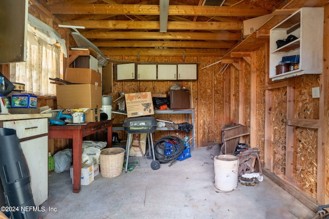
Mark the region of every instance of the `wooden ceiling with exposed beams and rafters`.
MULTIPOLYGON (((30 0, 32 5, 35 2, 30 0)), ((62 24, 85 27, 79 32, 104 54, 162 48, 225 54, 242 41, 245 19, 269 14, 287 2, 290 0, 226 0, 223 6, 202 6, 203 0, 170 0, 167 32, 159 31, 159 0, 38 0, 37 3, 62 24)), ((72 42, 70 46, 76 46, 72 42)))

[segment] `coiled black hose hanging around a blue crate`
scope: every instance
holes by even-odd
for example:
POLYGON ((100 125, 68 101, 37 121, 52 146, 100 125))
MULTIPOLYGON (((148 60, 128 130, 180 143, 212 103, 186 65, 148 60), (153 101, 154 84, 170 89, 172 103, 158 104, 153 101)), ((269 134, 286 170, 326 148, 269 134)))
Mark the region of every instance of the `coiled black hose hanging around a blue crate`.
POLYGON ((175 160, 184 150, 184 142, 176 136, 161 137, 155 142, 155 158, 165 164, 175 160))

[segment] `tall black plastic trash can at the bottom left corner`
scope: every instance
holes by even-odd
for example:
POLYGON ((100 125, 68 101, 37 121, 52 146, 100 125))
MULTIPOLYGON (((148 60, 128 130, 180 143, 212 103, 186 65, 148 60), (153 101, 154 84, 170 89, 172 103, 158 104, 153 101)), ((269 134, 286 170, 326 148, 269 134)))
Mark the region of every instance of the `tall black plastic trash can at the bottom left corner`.
POLYGON ((38 218, 30 185, 30 174, 14 129, 0 128, 0 178, 11 218, 38 218))

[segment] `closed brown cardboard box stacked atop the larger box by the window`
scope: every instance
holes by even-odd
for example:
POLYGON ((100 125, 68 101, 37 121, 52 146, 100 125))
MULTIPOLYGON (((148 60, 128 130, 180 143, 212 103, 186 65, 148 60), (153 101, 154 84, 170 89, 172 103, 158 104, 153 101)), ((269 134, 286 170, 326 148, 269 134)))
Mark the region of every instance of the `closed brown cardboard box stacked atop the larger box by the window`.
POLYGON ((102 86, 102 75, 89 68, 66 68, 64 80, 74 84, 102 86))

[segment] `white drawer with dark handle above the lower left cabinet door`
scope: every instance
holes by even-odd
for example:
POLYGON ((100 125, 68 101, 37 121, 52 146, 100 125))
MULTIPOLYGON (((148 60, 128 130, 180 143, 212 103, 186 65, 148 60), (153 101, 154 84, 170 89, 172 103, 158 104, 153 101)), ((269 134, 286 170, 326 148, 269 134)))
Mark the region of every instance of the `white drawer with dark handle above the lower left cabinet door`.
POLYGON ((3 122, 4 128, 15 129, 19 138, 32 137, 48 133, 48 118, 35 118, 31 120, 15 120, 3 122))

